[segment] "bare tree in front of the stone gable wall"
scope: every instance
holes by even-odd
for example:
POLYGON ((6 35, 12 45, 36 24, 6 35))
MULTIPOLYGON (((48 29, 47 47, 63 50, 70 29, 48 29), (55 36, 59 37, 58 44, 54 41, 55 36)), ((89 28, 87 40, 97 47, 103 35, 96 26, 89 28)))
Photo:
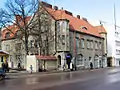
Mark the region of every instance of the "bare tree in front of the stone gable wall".
MULTIPOLYGON (((49 55, 50 43, 54 42, 52 17, 45 10, 46 5, 39 3, 38 11, 35 13, 33 23, 31 23, 31 35, 34 35, 37 41, 39 55, 49 55)), ((54 11, 52 12, 54 13, 54 11)))

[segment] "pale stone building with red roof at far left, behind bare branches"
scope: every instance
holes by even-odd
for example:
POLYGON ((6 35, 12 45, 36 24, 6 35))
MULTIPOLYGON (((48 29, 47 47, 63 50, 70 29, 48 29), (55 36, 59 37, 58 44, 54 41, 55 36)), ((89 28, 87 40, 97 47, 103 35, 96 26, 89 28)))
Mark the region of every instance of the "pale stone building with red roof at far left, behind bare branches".
MULTIPOLYGON (((20 16, 16 15, 16 20, 20 20, 19 18, 20 16)), ((27 17, 26 21, 29 20, 30 17, 27 17)), ((18 29, 18 27, 16 25, 10 25, 8 26, 8 28, 3 28, 1 34, 2 50, 7 51, 9 53, 9 67, 17 68, 19 63, 22 68, 26 67, 26 53, 24 49, 23 40, 19 38, 19 36, 21 36, 21 32, 18 29)))

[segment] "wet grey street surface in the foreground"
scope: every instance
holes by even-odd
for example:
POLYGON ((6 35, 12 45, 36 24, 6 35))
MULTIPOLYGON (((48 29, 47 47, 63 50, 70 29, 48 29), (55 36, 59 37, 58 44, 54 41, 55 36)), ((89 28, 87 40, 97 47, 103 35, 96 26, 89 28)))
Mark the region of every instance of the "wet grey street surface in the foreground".
POLYGON ((0 90, 119 90, 120 67, 76 72, 7 76, 0 90))

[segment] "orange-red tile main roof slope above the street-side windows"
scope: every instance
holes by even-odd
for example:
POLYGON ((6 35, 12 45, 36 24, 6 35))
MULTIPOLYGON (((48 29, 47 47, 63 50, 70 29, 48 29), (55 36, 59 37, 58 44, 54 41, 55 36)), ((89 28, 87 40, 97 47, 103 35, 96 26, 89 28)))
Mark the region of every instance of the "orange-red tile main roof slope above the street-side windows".
POLYGON ((69 20, 71 30, 83 32, 83 33, 94 35, 97 37, 102 37, 99 34, 99 31, 97 30, 97 28, 95 28, 94 26, 92 26, 91 24, 89 24, 83 19, 78 19, 77 17, 67 14, 65 10, 54 10, 49 7, 45 7, 45 9, 55 20, 59 20, 59 19, 69 20), (85 26, 88 30, 81 29, 82 26, 85 26))

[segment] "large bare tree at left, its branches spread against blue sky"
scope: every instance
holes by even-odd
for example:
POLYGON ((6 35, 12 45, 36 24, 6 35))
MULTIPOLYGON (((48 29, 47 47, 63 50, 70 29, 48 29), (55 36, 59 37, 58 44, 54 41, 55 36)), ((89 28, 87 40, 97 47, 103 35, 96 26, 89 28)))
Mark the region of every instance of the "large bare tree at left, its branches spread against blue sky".
POLYGON ((28 54, 29 26, 38 8, 38 0, 7 0, 6 7, 0 10, 0 25, 13 34, 14 32, 8 28, 9 25, 15 25, 21 31, 28 54))

